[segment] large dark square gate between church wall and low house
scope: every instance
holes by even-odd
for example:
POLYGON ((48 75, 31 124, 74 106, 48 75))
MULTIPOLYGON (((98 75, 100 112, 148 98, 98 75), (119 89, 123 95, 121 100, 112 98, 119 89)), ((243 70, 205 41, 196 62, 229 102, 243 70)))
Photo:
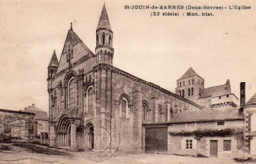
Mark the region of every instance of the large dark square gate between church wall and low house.
POLYGON ((164 152, 167 146, 167 127, 145 128, 145 152, 164 152))

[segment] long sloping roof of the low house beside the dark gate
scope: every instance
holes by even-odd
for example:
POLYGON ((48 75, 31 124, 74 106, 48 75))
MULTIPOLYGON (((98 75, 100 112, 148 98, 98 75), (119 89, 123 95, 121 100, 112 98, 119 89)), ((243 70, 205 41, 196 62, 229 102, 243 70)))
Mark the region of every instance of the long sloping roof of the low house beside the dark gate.
POLYGON ((239 108, 229 109, 205 109, 198 111, 183 111, 173 115, 170 123, 187 123, 187 122, 209 122, 222 120, 243 120, 239 108))

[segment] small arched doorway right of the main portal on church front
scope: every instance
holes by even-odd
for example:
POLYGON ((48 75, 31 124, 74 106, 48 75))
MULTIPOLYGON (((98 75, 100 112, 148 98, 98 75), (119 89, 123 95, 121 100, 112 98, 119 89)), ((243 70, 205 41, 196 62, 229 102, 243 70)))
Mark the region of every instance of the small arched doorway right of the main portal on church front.
POLYGON ((88 123, 85 127, 85 143, 86 149, 94 149, 94 126, 88 123))

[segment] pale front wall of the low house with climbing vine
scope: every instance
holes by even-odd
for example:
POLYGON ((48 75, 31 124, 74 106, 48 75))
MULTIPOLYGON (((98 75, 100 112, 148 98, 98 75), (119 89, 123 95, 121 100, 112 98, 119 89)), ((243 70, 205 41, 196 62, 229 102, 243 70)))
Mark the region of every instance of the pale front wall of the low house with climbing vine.
MULTIPOLYGON (((238 131, 243 130, 243 120, 225 121, 224 127, 219 127, 216 122, 202 122, 202 123, 181 123, 170 124, 168 126, 168 132, 181 132, 181 131, 195 131, 195 130, 220 130, 226 128, 233 128, 238 131)), ((204 156, 210 156, 210 140, 217 140, 218 142, 218 157, 240 157, 242 155, 243 146, 243 134, 241 132, 235 135, 228 136, 213 136, 202 137, 200 140, 196 140, 193 135, 181 136, 168 134, 168 153, 179 155, 192 155, 196 156, 201 154, 204 156), (186 140, 193 140, 192 149, 186 148, 186 140), (224 151, 223 141, 231 141, 231 150, 224 151)))

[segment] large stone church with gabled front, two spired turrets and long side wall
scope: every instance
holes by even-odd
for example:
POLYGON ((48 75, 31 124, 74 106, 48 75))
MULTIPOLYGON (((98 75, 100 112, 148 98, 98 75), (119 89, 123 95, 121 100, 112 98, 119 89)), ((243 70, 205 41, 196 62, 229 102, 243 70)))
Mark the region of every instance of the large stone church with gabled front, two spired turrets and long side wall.
POLYGON ((175 113, 201 108, 114 67, 113 58, 105 6, 96 28, 95 53, 71 26, 60 60, 54 51, 48 66, 50 146, 77 151, 113 144, 119 151, 142 152, 143 124, 168 122, 175 113))

